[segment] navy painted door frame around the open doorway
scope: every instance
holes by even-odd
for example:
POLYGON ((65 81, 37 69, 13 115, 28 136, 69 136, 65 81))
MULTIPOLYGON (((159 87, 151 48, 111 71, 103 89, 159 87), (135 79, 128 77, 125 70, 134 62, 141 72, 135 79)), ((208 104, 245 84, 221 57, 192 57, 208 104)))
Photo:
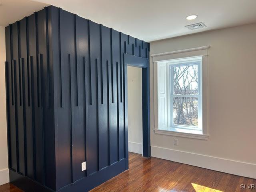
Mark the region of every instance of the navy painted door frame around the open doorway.
MULTIPOLYGON (((128 85, 127 66, 142 68, 142 137, 143 137, 143 157, 151 156, 150 147, 150 88, 149 88, 149 59, 124 54, 124 97, 125 97, 125 137, 126 137, 126 157, 128 157, 128 85)), ((128 161, 128 158, 127 158, 128 161)), ((128 163, 128 162, 127 162, 128 163)))

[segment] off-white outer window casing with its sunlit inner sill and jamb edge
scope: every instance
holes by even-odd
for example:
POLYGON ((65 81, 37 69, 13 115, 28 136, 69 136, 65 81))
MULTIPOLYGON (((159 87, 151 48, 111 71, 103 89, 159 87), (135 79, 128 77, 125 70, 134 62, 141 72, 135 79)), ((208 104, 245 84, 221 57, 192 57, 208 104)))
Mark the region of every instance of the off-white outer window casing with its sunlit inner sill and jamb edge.
MULTIPOLYGON (((150 78, 152 78, 153 83, 150 83, 150 88, 153 90, 150 93, 150 108, 153 109, 153 113, 150 113, 150 118, 153 119, 151 122, 151 126, 155 134, 165 135, 165 136, 175 136, 175 137, 183 137, 183 138, 192 138, 199 140, 208 140, 209 135, 209 126, 208 126, 208 106, 209 106, 209 89, 208 89, 208 68, 209 68, 209 49, 210 45, 199 46, 194 48, 180 49, 180 50, 171 50, 169 52, 160 52, 153 53, 150 56, 150 78), (192 130, 184 130, 184 129, 172 129, 167 130, 164 129, 163 124, 159 124, 159 116, 158 116, 158 66, 163 62, 170 60, 177 60, 181 58, 192 58, 202 56, 202 132, 196 132, 192 130)), ((168 75, 168 73, 166 74, 168 75)), ((168 105, 166 105, 168 107, 168 105)), ((168 122, 167 122, 168 123, 168 122)))

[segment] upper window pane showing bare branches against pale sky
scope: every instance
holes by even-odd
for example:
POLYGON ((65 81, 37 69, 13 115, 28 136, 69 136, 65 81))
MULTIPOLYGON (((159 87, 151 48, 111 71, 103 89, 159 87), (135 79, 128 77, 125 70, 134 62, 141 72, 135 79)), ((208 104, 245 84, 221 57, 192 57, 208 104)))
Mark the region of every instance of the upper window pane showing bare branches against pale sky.
POLYGON ((174 95, 198 94, 198 65, 173 67, 174 95))

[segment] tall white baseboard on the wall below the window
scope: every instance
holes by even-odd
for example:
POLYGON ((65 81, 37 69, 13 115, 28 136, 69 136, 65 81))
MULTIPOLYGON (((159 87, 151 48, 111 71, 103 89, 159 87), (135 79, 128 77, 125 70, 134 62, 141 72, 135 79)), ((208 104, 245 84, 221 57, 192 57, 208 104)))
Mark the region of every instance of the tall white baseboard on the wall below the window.
POLYGON ((224 173, 256 178, 256 164, 151 146, 151 156, 224 173))

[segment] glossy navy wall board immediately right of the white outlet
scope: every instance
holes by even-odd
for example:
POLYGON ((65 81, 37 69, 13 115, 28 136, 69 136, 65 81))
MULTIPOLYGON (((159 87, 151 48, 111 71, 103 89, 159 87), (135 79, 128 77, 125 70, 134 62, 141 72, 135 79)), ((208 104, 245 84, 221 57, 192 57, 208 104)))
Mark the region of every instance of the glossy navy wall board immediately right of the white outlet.
POLYGON ((86 160, 87 174, 90 176, 99 170, 99 146, 98 146, 98 68, 100 66, 100 25, 89 21, 89 100, 88 127, 86 129, 86 160))

